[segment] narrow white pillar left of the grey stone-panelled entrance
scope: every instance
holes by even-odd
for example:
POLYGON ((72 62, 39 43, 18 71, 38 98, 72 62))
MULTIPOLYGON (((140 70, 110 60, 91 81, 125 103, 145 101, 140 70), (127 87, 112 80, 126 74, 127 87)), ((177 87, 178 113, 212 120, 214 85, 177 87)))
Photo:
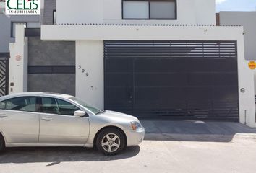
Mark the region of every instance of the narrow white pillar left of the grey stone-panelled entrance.
POLYGON ((9 43, 9 94, 27 92, 27 38, 24 25, 16 25, 15 38, 15 43, 9 43), (20 60, 17 56, 20 56, 20 60))

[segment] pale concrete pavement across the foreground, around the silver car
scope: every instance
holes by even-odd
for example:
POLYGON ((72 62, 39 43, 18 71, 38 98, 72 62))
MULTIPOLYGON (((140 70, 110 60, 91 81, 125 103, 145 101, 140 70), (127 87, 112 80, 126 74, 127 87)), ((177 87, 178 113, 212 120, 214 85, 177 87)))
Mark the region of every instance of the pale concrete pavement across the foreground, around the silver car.
POLYGON ((200 121, 142 124, 145 141, 118 156, 93 148, 7 148, 0 172, 255 172, 254 128, 200 121))

